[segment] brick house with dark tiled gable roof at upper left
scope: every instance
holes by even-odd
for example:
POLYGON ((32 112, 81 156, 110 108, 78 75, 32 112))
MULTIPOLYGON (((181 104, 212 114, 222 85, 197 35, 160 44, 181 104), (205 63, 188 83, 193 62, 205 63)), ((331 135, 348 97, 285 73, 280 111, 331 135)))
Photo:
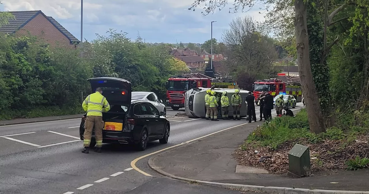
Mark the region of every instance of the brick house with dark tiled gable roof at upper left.
POLYGON ((46 16, 42 11, 9 11, 14 18, 9 23, 0 27, 0 33, 26 36, 31 34, 51 47, 62 45, 76 48, 79 40, 69 33, 54 18, 46 16))

